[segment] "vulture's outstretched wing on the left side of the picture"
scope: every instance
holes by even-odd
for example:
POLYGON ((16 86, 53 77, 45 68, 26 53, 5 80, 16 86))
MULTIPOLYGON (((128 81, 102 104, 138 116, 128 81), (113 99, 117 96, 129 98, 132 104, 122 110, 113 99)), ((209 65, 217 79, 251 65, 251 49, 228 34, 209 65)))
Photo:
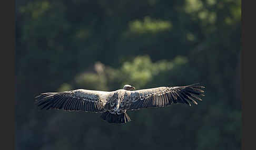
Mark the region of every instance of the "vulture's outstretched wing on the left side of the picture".
POLYGON ((65 111, 103 112, 109 92, 93 90, 72 90, 66 92, 42 93, 35 97, 41 109, 62 109, 65 111))

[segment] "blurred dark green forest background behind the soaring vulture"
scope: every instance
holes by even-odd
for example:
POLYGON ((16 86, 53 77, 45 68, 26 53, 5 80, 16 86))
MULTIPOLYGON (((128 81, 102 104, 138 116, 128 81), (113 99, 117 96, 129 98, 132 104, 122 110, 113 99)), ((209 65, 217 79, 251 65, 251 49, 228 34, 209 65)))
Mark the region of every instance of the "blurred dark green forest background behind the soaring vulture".
POLYGON ((241 149, 241 1, 16 2, 16 149, 241 149), (200 82, 198 105, 40 111, 43 92, 200 82))

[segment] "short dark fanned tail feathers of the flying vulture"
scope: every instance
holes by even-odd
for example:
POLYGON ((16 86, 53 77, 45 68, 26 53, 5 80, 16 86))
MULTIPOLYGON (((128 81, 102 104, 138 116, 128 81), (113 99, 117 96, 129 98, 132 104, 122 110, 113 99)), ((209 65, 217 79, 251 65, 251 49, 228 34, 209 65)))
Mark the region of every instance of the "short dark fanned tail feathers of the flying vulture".
POLYGON ((112 114, 106 111, 101 115, 101 118, 109 123, 126 123, 131 121, 126 112, 122 114, 112 114))

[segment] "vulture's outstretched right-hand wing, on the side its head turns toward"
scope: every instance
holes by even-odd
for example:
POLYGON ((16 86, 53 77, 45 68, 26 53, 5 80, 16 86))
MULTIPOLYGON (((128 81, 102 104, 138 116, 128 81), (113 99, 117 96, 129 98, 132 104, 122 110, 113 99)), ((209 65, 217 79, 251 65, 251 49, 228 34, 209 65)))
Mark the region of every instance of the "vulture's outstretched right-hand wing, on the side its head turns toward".
POLYGON ((198 95, 204 96, 202 88, 204 87, 192 84, 184 87, 159 87, 131 91, 131 106, 129 110, 163 107, 175 103, 184 103, 190 106, 190 102, 198 104, 198 100, 202 101, 198 95))

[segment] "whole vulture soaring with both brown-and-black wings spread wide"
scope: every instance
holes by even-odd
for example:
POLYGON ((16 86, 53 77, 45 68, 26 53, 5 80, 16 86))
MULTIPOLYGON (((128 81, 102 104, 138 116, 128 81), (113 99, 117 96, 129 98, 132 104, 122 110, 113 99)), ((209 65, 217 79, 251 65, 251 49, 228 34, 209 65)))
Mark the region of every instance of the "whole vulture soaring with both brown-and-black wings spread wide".
POLYGON ((161 108, 172 104, 198 104, 204 88, 192 84, 183 87, 158 87, 135 90, 124 85, 116 91, 71 90, 64 92, 41 93, 35 97, 35 104, 41 109, 64 111, 84 111, 102 113, 101 118, 109 123, 131 121, 126 111, 145 108, 161 108))

